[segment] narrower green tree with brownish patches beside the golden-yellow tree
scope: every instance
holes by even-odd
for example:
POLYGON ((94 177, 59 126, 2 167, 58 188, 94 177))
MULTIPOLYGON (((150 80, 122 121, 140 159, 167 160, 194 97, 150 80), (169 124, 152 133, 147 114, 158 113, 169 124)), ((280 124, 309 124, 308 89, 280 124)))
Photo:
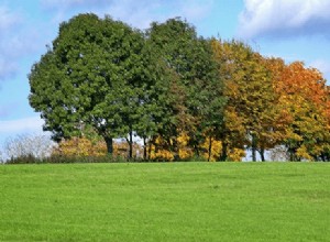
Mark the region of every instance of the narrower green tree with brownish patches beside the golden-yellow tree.
POLYGON ((198 37, 194 26, 180 19, 152 23, 147 37, 168 77, 160 135, 178 158, 178 138, 187 134, 187 145, 199 156, 206 134, 213 135, 211 131, 223 117, 223 89, 210 42, 198 37))

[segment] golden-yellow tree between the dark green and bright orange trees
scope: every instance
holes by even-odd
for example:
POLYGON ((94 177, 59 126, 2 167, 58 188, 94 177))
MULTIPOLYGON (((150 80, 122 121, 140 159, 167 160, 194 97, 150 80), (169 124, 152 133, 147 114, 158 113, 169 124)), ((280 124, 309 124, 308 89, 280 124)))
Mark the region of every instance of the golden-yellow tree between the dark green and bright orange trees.
POLYGON ((213 40, 212 47, 228 98, 220 131, 221 160, 227 160, 229 147, 243 150, 248 146, 252 150, 253 161, 256 161, 257 151, 264 161, 265 146, 262 141, 273 133, 273 105, 276 100, 265 59, 238 41, 213 40))

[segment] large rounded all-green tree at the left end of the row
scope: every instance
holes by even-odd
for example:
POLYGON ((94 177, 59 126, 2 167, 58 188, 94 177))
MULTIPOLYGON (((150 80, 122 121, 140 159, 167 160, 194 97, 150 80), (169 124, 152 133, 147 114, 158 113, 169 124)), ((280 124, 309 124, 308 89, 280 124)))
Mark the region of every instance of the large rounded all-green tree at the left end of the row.
POLYGON ((143 48, 140 31, 109 16, 79 14, 62 23, 29 75, 30 105, 45 120, 44 130, 59 141, 80 136, 90 125, 112 153, 112 139, 132 135, 143 110, 144 81, 151 77, 143 48))

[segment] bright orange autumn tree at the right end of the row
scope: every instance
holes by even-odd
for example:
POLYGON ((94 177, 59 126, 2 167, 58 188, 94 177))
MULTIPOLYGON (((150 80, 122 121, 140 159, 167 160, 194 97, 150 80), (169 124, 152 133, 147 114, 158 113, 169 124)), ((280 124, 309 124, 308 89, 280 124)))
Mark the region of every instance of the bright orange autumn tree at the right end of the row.
POLYGON ((329 158, 329 87, 321 73, 295 62, 285 66, 276 84, 286 117, 284 144, 290 161, 329 158))

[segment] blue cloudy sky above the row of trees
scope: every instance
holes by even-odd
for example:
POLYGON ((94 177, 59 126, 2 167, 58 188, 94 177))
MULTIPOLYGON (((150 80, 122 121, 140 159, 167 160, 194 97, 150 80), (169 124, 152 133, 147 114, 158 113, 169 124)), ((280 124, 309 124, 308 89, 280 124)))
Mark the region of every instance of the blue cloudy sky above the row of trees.
POLYGON ((26 76, 59 23, 85 12, 140 29, 182 16, 199 35, 242 40, 263 55, 302 61, 330 79, 329 0, 0 0, 0 150, 9 136, 42 131, 28 102, 26 76))

